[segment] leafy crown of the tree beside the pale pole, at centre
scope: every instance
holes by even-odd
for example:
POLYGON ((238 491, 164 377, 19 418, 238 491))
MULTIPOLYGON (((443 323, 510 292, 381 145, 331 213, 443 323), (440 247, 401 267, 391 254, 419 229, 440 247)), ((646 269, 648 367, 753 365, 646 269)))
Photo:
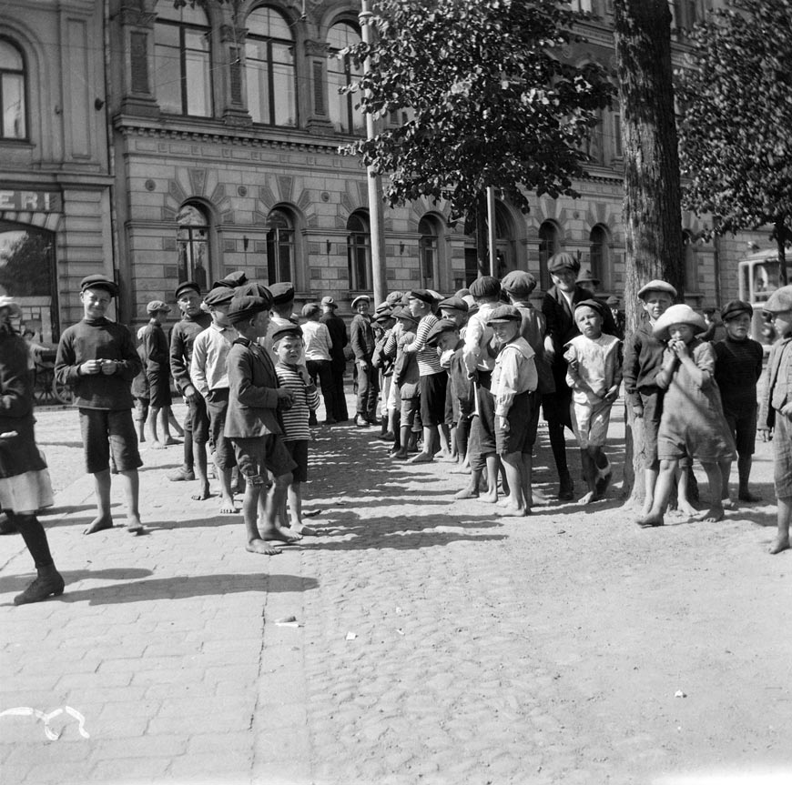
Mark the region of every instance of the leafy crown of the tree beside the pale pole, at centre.
POLYGON ((470 216, 487 186, 528 209, 523 189, 577 196, 581 146, 610 103, 597 65, 563 62, 574 15, 556 0, 379 0, 371 70, 351 89, 364 112, 407 122, 345 148, 387 176, 391 206, 429 196, 470 216))

